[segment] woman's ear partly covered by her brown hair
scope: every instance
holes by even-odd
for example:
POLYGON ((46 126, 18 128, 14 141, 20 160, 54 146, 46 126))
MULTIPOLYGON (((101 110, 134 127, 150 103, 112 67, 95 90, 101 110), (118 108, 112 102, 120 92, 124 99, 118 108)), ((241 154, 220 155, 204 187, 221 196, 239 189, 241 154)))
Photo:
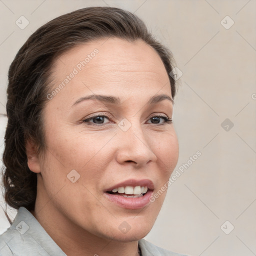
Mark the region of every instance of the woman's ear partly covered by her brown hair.
POLYGON ((39 161, 39 157, 36 153, 35 143, 31 139, 27 139, 26 143, 25 143, 25 147, 26 147, 28 168, 35 173, 41 172, 40 161, 39 161))

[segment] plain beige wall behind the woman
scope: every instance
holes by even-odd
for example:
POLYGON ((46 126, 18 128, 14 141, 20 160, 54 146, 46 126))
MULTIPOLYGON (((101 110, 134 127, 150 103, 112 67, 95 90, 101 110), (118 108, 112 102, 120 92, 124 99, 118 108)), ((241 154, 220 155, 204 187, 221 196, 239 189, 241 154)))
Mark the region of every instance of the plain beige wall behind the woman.
MULTIPOLYGON (((1 113, 8 66, 27 37, 46 21, 91 5, 135 12, 171 49, 183 73, 173 115, 176 169, 197 150, 201 156, 169 187, 145 238, 188 255, 255 255, 256 1, 0 0, 1 113), (15 24, 21 15, 29 21, 24 29, 15 24)), ((0 121, 2 146, 6 120, 0 121)), ((8 226, 0 211, 0 233, 8 226)))

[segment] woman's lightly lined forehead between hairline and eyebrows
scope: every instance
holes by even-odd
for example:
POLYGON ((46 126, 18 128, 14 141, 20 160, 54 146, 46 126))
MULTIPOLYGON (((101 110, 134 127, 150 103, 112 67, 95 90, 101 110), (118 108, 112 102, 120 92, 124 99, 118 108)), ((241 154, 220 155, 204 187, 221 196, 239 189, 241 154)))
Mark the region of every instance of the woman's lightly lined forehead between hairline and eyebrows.
POLYGON ((142 40, 103 38, 76 45, 55 60, 51 80, 52 89, 64 85, 55 98, 61 95, 66 102, 91 92, 156 93, 162 88, 171 95, 161 58, 142 40))

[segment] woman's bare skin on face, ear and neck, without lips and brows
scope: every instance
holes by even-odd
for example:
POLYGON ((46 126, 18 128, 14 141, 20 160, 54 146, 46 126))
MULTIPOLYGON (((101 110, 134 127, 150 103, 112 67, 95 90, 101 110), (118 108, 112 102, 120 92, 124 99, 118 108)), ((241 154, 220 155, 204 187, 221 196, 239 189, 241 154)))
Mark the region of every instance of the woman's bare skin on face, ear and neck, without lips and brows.
MULTIPOLYGON (((31 213, 67 255, 136 255, 138 240, 152 228, 166 190, 144 208, 125 209, 106 199, 103 190, 129 178, 149 178, 154 191, 169 179, 178 159, 172 123, 151 117, 172 116, 172 102, 147 105, 155 94, 171 97, 164 65, 141 40, 119 38, 79 44, 62 54, 52 67, 52 89, 76 64, 97 48, 99 52, 43 108, 45 150, 37 155, 26 143, 27 163, 37 173, 37 197, 31 213), (120 104, 84 100, 82 96, 118 96, 120 104), (108 114, 103 124, 91 115, 108 114), (131 127, 123 131, 118 122, 131 127), (72 183, 67 174, 80 177, 72 183), (130 230, 118 226, 126 221, 130 230)), ((172 98, 172 97, 171 97, 172 98)))

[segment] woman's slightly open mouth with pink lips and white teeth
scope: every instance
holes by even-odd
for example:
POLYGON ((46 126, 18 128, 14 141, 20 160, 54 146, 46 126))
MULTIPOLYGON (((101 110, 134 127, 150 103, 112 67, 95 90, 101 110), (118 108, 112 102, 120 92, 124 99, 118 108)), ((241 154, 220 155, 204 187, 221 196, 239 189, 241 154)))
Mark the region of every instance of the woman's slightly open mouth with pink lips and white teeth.
POLYGON ((146 206, 154 190, 153 182, 144 180, 126 180, 104 191, 112 203, 126 209, 138 209, 146 206))

